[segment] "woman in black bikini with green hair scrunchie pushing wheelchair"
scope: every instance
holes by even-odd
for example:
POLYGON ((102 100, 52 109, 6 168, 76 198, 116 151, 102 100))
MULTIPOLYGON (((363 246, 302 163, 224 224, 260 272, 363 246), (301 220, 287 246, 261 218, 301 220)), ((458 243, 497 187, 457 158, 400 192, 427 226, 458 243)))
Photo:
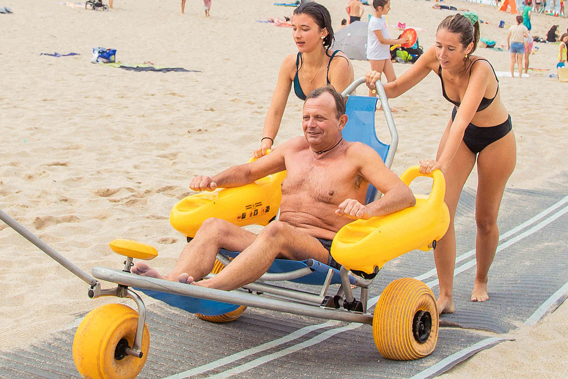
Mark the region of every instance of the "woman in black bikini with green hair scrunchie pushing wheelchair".
MULTIPOLYGON (((440 76, 442 94, 454 105, 452 117, 438 146, 436 159, 420 161, 420 171, 441 169, 446 178, 445 202, 450 227, 434 251, 440 297, 438 311, 452 313, 453 272, 456 264, 454 215, 460 193, 477 160, 475 221, 477 273, 471 301, 486 301, 487 273, 499 240, 497 214, 503 190, 516 163, 511 117, 499 94, 499 82, 491 64, 471 55, 479 41, 477 15, 467 12, 448 16, 438 26, 436 44, 397 80, 385 85, 389 98, 411 89, 433 71, 440 76)), ((379 77, 367 72, 369 88, 379 77)))

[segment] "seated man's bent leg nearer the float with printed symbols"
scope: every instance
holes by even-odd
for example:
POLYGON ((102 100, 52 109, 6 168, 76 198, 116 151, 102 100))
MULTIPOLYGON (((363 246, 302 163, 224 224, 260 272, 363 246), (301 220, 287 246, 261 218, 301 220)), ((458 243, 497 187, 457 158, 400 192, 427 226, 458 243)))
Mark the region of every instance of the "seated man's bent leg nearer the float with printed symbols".
POLYGON ((182 274, 184 274, 183 282, 188 276, 201 279, 211 272, 220 248, 243 251, 253 243, 256 237, 256 234, 228 221, 210 218, 203 222, 195 238, 183 248, 176 266, 170 273, 162 276, 156 269, 144 262, 136 263, 132 272, 171 281, 180 280, 182 274))

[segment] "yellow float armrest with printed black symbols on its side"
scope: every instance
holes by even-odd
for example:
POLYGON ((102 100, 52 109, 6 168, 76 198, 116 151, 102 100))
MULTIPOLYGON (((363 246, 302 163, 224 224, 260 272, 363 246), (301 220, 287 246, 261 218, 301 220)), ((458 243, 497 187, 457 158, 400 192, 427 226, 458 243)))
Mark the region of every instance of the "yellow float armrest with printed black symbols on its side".
MULTIPOLYGON (((251 158, 249 162, 252 162, 251 158)), ((286 177, 281 171, 254 183, 237 188, 200 192, 179 201, 170 213, 170 224, 177 231, 193 238, 204 220, 215 217, 237 226, 259 224, 266 226, 278 213, 286 177)))

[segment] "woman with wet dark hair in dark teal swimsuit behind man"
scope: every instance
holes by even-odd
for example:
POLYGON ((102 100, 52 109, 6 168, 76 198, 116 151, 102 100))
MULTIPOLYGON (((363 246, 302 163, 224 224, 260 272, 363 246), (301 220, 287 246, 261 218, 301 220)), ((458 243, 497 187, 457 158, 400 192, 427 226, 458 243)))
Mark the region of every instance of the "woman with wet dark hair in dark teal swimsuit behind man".
POLYGON ((353 81, 353 66, 343 52, 329 51, 333 42, 333 28, 329 11, 318 3, 304 3, 294 10, 292 36, 298 47, 282 62, 272 102, 262 130, 260 147, 255 157, 266 154, 274 144, 290 89, 300 100, 314 89, 331 84, 339 92, 353 81))

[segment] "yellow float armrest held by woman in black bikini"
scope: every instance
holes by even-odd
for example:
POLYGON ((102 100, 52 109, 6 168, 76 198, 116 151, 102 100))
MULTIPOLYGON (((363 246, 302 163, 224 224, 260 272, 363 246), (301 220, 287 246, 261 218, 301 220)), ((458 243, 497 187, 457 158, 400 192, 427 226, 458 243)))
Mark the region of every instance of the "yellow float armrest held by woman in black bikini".
POLYGON ((371 274, 375 267, 381 269, 387 261, 409 251, 429 251, 432 242, 444 236, 450 223, 444 202, 444 174, 440 170, 421 174, 418 166, 412 166, 400 179, 410 185, 419 176, 433 179, 432 191, 428 197, 415 195, 415 206, 368 220, 355 220, 337 232, 331 245, 331 255, 337 263, 349 270, 371 274))

